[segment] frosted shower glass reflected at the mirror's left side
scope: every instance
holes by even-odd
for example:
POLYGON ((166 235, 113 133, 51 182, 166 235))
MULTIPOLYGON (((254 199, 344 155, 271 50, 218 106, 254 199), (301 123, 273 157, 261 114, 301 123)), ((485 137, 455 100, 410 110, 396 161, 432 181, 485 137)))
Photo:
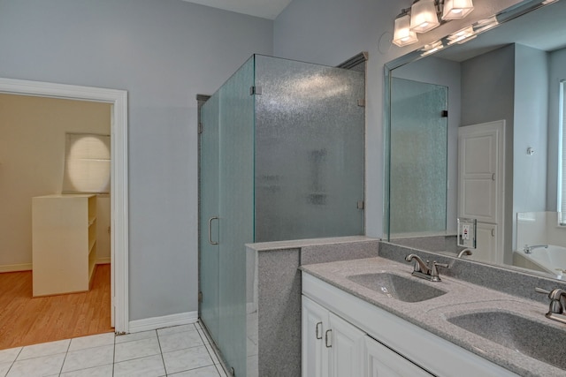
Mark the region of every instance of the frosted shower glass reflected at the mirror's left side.
POLYGON ((390 237, 445 232, 447 87, 392 80, 390 237))

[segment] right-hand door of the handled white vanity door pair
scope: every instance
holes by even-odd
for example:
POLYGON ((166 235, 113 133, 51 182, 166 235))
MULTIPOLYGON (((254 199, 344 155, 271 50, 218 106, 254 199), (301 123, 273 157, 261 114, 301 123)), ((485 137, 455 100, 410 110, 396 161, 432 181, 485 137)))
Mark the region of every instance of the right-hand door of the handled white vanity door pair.
POLYGON ((361 377, 363 375, 363 354, 365 334, 355 326, 329 313, 332 333, 332 351, 329 352, 330 371, 333 377, 361 377))

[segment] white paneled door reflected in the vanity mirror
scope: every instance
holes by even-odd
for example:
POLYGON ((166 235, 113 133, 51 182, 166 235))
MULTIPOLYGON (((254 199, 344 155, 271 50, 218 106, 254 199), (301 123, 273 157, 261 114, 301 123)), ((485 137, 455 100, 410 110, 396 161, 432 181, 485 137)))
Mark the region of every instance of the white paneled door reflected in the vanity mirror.
POLYGON ((504 120, 459 128, 458 216, 478 220, 473 260, 503 261, 504 154, 504 120))

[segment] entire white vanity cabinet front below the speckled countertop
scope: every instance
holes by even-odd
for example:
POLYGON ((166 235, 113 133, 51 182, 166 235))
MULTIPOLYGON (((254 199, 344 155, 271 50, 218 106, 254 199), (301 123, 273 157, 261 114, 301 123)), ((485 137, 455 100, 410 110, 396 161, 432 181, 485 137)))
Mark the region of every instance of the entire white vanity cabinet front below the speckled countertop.
POLYGON ((303 271, 302 377, 432 375, 516 377, 455 343, 303 271), (328 330, 332 336, 330 348, 325 339, 328 330))

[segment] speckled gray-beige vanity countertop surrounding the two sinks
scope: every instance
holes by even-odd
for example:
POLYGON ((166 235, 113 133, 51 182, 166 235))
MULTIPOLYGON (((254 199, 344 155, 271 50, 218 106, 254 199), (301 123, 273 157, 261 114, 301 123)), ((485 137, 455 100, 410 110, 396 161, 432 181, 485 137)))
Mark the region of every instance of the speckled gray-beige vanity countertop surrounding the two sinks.
MULTIPOLYGON (((548 305, 443 276, 442 268, 439 268, 442 281, 438 283, 428 282, 410 275, 412 269, 412 262, 399 263, 379 257, 303 265, 301 267, 304 273, 313 275, 340 288, 340 290, 362 298, 389 313, 394 313, 403 320, 424 328, 432 334, 455 343, 465 350, 486 358, 514 373, 522 376, 545 377, 563 377, 566 375, 566 371, 563 369, 491 342, 447 321, 448 318, 460 314, 489 312, 496 309, 498 312, 512 313, 539 322, 547 327, 555 328, 556 331, 565 332, 566 326, 555 320, 548 320, 544 316, 547 313, 548 305), (431 285, 440 290, 445 290, 447 293, 437 298, 410 303, 390 298, 381 292, 365 288, 363 285, 348 280, 348 276, 351 275, 379 272, 388 272, 415 279, 418 283, 431 285)), ((562 354, 563 346, 563 344, 556 344, 556 352, 562 354)), ((533 344, 533 347, 536 347, 536 344, 533 344)))

